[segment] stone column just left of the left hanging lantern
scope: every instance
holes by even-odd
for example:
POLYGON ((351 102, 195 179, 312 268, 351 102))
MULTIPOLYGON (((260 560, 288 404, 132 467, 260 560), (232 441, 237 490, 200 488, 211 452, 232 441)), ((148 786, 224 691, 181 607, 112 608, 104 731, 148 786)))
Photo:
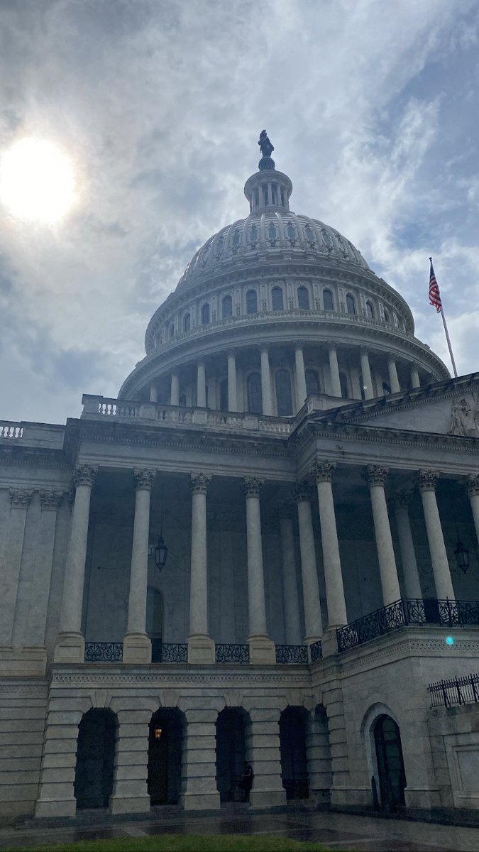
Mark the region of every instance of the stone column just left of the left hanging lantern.
POLYGON ((156 470, 136 469, 135 520, 131 548, 130 595, 124 636, 124 663, 151 663, 152 643, 147 636, 148 542, 150 534, 150 492, 156 470))

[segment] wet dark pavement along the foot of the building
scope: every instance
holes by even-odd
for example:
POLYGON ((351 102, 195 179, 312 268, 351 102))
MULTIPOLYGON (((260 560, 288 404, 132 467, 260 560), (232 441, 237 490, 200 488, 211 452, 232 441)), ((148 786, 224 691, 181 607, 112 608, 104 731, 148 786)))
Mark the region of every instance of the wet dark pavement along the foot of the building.
POLYGON ((78 840, 142 838, 155 834, 269 834, 325 843, 350 852, 478 852, 479 828, 445 826, 416 820, 382 819, 311 810, 257 812, 245 809, 197 815, 154 813, 147 819, 113 819, 96 812, 91 824, 68 825, 26 820, 0 829, 0 849, 32 849, 41 843, 78 840))

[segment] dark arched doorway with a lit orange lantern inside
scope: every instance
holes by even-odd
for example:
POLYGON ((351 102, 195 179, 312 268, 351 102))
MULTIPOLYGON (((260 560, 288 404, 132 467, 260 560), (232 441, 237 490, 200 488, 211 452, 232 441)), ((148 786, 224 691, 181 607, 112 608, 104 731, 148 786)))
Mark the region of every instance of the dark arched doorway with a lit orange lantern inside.
POLYGON ((147 790, 152 805, 177 804, 182 787, 183 714, 176 707, 153 713, 148 736, 147 790))

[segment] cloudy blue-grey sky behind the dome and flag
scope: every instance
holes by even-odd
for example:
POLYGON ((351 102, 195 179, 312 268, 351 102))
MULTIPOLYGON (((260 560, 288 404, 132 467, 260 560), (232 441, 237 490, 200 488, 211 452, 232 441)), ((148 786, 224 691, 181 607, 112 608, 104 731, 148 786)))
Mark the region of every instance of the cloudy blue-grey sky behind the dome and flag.
POLYGON ((194 252, 247 216, 263 128, 450 369, 479 370, 479 0, 0 0, 0 154, 70 158, 55 225, 0 204, 0 418, 115 397, 194 252))

